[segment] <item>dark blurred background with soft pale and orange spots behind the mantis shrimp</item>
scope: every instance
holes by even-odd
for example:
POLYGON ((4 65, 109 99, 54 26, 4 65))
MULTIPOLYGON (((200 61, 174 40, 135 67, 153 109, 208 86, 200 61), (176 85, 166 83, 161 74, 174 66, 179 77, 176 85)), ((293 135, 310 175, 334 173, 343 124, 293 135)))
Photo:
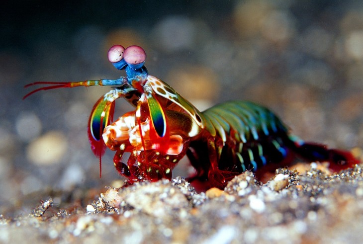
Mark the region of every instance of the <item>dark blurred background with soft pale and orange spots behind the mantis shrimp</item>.
MULTIPOLYGON (((23 86, 33 81, 124 76, 107 61, 114 44, 142 46, 149 73, 201 110, 252 100, 271 108, 304 140, 363 147, 360 0, 1 5, 0 214, 29 213, 24 199, 39 202, 55 191, 82 194, 79 189, 102 189, 120 179, 110 151, 99 179, 87 138, 92 106, 109 87, 40 91, 22 100, 32 89, 23 86)), ((115 118, 130 110, 119 99, 115 118)))

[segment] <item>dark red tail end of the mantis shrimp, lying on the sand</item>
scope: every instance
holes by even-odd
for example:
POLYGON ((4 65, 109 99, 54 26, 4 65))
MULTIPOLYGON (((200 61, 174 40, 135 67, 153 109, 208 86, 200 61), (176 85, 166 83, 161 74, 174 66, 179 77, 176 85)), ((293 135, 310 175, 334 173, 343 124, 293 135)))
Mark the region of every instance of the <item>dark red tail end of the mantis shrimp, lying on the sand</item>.
POLYGON ((333 171, 340 171, 349 167, 354 167, 360 163, 351 152, 328 149, 325 145, 305 142, 294 142, 295 148, 293 151, 302 158, 309 161, 329 162, 329 168, 333 171))

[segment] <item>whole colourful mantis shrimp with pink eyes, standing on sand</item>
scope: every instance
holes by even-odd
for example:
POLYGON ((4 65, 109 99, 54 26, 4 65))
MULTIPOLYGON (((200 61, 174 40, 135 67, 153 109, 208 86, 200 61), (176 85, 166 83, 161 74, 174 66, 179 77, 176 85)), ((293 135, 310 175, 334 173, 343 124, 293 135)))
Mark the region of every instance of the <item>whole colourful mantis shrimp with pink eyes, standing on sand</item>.
MULTIPOLYGON (((139 46, 114 45, 108 60, 126 77, 117 80, 33 82, 25 87, 50 84, 47 89, 111 85, 93 106, 88 122, 92 152, 99 158, 106 147, 116 151, 116 170, 126 183, 171 179, 172 170, 185 155, 196 173, 190 180, 207 181, 223 188, 245 170, 267 170, 286 165, 294 156, 328 161, 332 170, 359 163, 350 152, 306 143, 289 134, 268 108, 248 101, 230 101, 200 112, 164 81, 149 75, 146 53, 139 46), (124 97, 135 110, 113 122, 114 104, 124 97)), ((24 99, 23 98, 23 99, 24 99)))

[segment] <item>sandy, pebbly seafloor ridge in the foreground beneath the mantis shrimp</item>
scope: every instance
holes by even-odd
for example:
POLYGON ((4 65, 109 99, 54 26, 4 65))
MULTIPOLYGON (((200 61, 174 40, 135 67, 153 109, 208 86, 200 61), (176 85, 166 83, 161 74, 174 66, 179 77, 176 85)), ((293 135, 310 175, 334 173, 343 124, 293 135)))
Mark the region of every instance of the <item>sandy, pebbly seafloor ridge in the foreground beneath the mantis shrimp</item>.
POLYGON ((196 193, 180 177, 109 187, 89 204, 44 199, 29 215, 0 219, 4 243, 361 243, 362 165, 330 174, 313 163, 261 184, 245 172, 224 191, 196 193), (51 204, 54 204, 51 206, 51 204))

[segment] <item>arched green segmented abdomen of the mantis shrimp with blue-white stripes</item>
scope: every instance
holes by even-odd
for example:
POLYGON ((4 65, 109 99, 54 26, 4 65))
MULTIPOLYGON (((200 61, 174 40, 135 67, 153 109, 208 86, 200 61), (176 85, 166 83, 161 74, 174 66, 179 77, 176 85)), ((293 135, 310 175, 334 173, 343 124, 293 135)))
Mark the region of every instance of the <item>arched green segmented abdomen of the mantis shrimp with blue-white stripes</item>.
POLYGON ((215 140, 221 170, 255 171, 267 163, 279 163, 292 143, 282 122, 269 109, 253 102, 222 103, 203 115, 207 131, 215 140))

